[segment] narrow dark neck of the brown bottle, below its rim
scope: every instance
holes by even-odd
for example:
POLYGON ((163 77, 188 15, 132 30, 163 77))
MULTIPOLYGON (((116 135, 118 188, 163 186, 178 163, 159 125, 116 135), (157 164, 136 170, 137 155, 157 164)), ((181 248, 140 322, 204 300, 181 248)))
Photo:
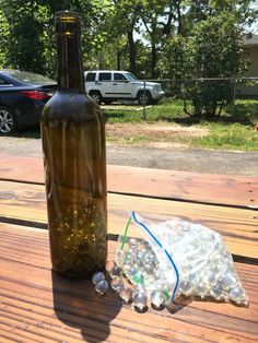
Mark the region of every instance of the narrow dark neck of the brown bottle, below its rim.
POLYGON ((73 32, 57 33, 58 90, 84 92, 81 36, 73 32))

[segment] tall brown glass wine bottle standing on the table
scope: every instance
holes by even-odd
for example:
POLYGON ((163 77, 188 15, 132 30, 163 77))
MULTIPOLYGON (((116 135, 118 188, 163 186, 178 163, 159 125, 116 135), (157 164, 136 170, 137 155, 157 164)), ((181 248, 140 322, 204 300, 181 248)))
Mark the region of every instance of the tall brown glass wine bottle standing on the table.
POLYGON ((52 269, 84 277, 107 253, 105 123, 85 95, 81 21, 57 12, 58 90, 42 116, 52 269))

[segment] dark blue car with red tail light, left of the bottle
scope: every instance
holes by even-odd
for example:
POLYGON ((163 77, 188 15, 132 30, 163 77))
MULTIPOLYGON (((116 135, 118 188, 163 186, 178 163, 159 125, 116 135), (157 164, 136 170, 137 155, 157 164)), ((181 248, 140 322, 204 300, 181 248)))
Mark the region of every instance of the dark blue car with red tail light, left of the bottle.
POLYGON ((0 70, 0 134, 39 123, 44 105, 57 83, 31 72, 0 70))

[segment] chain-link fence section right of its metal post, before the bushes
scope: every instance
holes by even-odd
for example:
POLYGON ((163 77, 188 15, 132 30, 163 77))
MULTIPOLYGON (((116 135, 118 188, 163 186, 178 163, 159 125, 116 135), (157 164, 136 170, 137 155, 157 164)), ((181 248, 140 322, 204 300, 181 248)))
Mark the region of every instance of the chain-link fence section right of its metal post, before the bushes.
POLYGON ((194 115, 198 109, 220 115, 226 108, 227 114, 235 116, 238 99, 257 100, 258 106, 258 78, 146 80, 144 93, 149 92, 149 82, 160 83, 164 96, 156 105, 143 102, 142 119, 148 119, 150 113, 153 116, 153 113, 161 110, 164 111, 160 114, 161 119, 165 119, 169 116, 169 113, 166 113, 168 108, 173 114, 188 115, 194 115), (167 109, 164 106, 166 104, 171 105, 167 109))

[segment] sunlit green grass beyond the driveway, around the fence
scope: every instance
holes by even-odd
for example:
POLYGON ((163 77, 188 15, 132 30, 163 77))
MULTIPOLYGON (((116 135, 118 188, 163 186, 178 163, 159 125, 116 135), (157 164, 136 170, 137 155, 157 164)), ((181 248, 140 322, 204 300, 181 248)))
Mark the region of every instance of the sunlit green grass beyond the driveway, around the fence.
MULTIPOLYGON (((144 122, 143 111, 139 106, 117 106, 115 109, 103 108, 107 122, 144 122)), ((183 127, 206 128, 209 134, 202 138, 175 137, 169 141, 181 142, 189 146, 258 151, 258 132, 254 126, 258 122, 258 100, 236 100, 235 115, 232 107, 224 108, 219 118, 196 118, 184 113, 179 99, 163 99, 159 105, 146 108, 148 122, 177 123, 183 127)), ((129 143, 144 141, 144 138, 131 137, 129 143)), ((148 141, 148 138, 145 139, 148 141)))

